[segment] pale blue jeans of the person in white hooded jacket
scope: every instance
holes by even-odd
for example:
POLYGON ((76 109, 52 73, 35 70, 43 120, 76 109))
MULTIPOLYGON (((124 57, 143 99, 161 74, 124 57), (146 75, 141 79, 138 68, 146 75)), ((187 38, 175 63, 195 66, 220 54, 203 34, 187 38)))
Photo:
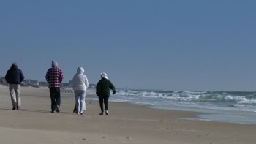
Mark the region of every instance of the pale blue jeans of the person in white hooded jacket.
POLYGON ((85 90, 75 90, 75 107, 76 112, 83 112, 86 110, 86 91, 85 90))

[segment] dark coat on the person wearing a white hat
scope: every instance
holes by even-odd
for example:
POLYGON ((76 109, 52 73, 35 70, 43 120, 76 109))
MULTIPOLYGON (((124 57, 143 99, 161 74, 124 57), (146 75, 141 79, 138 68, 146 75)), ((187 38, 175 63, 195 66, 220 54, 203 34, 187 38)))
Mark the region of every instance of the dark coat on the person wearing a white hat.
POLYGON ((110 89, 113 91, 113 94, 116 93, 115 86, 113 86, 110 80, 102 77, 102 79, 97 83, 96 94, 99 97, 109 97, 110 89))

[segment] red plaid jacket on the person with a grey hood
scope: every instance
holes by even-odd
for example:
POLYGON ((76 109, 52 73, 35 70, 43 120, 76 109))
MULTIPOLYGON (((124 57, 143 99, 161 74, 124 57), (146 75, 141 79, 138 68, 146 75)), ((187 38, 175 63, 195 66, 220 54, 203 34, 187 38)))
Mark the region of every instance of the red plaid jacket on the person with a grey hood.
POLYGON ((63 80, 63 72, 59 67, 52 67, 48 69, 46 73, 46 81, 49 83, 49 88, 61 87, 61 82, 63 80))

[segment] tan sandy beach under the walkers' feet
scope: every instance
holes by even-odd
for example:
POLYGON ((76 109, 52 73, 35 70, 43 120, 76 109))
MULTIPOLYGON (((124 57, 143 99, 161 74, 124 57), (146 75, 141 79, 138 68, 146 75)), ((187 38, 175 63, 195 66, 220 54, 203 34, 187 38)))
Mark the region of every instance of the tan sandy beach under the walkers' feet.
POLYGON ((86 101, 86 114, 76 115, 72 96, 61 94, 61 113, 50 113, 48 88, 22 87, 21 109, 12 110, 0 86, 0 143, 256 143, 256 125, 186 120, 195 113, 118 102, 99 115, 98 102, 86 101))

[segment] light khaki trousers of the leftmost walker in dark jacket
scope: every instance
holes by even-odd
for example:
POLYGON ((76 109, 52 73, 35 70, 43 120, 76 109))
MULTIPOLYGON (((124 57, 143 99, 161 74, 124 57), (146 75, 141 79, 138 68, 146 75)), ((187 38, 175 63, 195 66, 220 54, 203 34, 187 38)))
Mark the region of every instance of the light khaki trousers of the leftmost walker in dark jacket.
POLYGON ((10 96, 12 99, 12 106, 17 107, 21 106, 21 101, 20 101, 20 85, 19 84, 10 84, 9 85, 9 91, 10 91, 10 96))

